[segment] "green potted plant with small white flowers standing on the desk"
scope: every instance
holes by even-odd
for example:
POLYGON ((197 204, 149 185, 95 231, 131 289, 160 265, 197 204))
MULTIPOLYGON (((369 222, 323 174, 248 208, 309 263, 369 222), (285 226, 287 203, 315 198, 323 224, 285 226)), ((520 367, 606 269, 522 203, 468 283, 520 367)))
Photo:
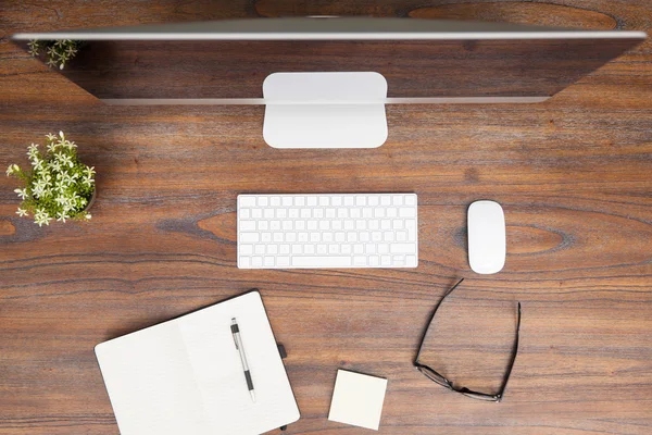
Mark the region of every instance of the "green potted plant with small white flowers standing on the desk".
POLYGON ((30 171, 10 164, 7 175, 20 178, 25 187, 14 191, 23 200, 16 214, 34 215, 34 223, 50 225, 50 221, 90 220, 88 209, 96 196, 95 166, 89 167, 77 158, 77 145, 59 136, 46 136, 47 150, 41 153, 38 145, 27 148, 30 171))

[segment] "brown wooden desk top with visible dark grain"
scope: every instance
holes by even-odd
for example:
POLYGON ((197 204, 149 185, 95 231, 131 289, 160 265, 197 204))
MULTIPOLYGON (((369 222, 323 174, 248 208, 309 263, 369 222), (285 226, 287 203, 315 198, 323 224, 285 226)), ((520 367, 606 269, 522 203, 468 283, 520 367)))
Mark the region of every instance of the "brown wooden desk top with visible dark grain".
POLYGON ((11 45, 22 30, 310 14, 480 17, 648 30, 645 0, 556 3, 127 2, 0 7, 0 162, 63 129, 98 172, 88 224, 39 228, 0 178, 0 434, 115 434, 93 346, 252 287, 262 290, 302 419, 327 421, 337 369, 389 380, 386 434, 652 432, 652 45, 547 103, 393 105, 376 150, 276 150, 261 107, 106 107, 11 45), (449 4, 453 3, 453 4, 449 4), (460 3, 460 4, 454 4, 460 3), (416 270, 240 271, 236 196, 415 191, 416 270), (501 202, 509 256, 467 266, 465 212, 501 202), (522 344, 505 399, 452 394, 411 361, 430 310, 432 365, 491 390, 522 344))

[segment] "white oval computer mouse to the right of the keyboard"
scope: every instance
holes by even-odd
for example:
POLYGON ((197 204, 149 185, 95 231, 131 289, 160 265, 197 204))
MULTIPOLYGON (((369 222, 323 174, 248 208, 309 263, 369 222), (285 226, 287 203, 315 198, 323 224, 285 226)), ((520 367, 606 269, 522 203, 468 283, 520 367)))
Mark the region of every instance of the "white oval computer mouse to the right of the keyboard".
POLYGON ((505 265, 505 214, 494 201, 476 201, 468 207, 468 263, 475 273, 500 272, 505 265))

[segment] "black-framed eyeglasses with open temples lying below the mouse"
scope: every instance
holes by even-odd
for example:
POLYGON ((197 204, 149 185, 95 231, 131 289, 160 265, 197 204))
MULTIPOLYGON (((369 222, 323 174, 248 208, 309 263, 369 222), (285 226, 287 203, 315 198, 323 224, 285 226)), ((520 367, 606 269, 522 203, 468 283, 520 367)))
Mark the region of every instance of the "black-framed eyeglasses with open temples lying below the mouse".
POLYGON ((422 372, 426 377, 428 377, 430 381, 434 381, 435 383, 441 385, 444 388, 450 389, 451 391, 460 393, 460 394, 462 394, 462 395, 464 395, 466 397, 471 397, 472 399, 499 402, 499 401, 502 400, 503 395, 505 393, 505 388, 507 386, 507 381, 510 381, 510 375, 512 374, 512 369, 514 368, 514 361, 516 361, 516 353, 518 352, 518 331, 521 330, 521 302, 518 302, 518 320, 516 321, 516 338, 514 340, 514 347, 512 348, 512 358, 510 360, 510 364, 507 365, 507 372, 505 373, 505 377, 503 380, 502 386, 500 387, 500 390, 497 394, 490 395, 490 394, 486 394, 486 393, 474 391, 474 390, 471 390, 471 389, 465 388, 465 387, 456 387, 446 376, 441 375, 440 373, 438 373, 437 371, 432 370, 428 365, 422 364, 418 361, 418 359, 421 357, 421 353, 422 353, 422 350, 424 348, 424 344, 426 343, 426 338, 428 338, 428 333, 432 328, 432 321, 435 320, 435 314, 437 313, 437 310, 439 309, 439 306, 441 306, 441 302, 443 302, 443 300, 446 299, 446 297, 449 296, 451 293, 453 293, 453 290, 460 284, 462 284, 463 281, 464 281, 464 278, 460 279, 457 282, 457 284, 455 284, 450 290, 448 290, 446 293, 446 295, 443 295, 443 297, 441 298, 441 300, 439 301, 439 303, 437 303, 437 306, 435 307, 435 311, 432 311, 432 316, 430 318, 430 322, 428 323, 428 327, 426 328, 426 332, 424 333, 424 337, 422 338, 422 343, 418 346, 418 352, 416 353, 416 359, 414 360, 414 366, 419 372, 422 372))

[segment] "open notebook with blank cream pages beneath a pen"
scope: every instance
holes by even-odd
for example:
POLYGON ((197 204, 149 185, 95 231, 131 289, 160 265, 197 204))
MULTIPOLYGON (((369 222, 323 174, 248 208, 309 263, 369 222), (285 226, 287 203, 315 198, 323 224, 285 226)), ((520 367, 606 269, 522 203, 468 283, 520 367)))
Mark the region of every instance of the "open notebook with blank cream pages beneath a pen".
POLYGON ((299 419, 258 291, 104 341, 96 355, 122 435, 260 434, 299 419), (255 402, 234 344, 233 318, 255 402))

